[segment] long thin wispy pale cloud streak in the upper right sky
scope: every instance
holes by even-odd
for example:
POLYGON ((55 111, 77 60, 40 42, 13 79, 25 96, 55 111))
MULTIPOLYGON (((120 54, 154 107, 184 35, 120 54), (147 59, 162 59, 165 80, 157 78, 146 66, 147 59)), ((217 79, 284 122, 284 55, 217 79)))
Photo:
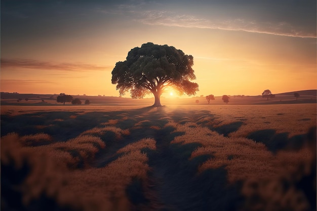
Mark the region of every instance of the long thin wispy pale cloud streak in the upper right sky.
POLYGON ((315 30, 296 27, 295 25, 292 25, 286 21, 270 22, 247 20, 243 18, 210 20, 207 18, 199 18, 193 15, 179 15, 175 12, 155 10, 140 12, 135 20, 148 25, 222 29, 293 37, 316 38, 315 30))

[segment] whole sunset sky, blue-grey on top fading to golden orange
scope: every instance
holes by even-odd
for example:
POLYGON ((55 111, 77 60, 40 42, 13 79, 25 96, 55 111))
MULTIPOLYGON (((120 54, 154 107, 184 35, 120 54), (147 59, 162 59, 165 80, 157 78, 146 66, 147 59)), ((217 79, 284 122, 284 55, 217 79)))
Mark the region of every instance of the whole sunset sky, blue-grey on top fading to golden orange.
POLYGON ((193 56, 197 95, 317 89, 315 0, 1 0, 1 92, 118 96, 147 42, 193 56))

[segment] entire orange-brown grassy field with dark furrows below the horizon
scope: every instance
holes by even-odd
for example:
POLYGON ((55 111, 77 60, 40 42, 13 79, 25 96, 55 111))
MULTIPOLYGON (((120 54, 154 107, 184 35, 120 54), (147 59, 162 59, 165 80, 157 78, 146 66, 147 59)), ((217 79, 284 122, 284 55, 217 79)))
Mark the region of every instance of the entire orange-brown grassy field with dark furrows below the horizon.
POLYGON ((316 210, 315 103, 19 103, 3 210, 316 210))

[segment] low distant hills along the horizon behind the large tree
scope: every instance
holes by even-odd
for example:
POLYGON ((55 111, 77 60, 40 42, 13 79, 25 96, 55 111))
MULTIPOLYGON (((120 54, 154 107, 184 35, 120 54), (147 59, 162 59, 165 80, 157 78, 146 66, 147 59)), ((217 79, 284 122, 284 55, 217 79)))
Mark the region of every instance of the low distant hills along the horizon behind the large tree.
MULTIPOLYGON (((288 93, 275 94, 275 98, 266 99, 258 96, 229 96, 228 105, 258 105, 258 104, 302 104, 316 103, 317 90, 303 90, 288 93), (294 93, 298 93, 300 97, 296 100, 294 93)), ((56 102, 57 94, 18 94, 18 93, 1 93, 1 105, 62 105, 56 102)), ((128 97, 109 97, 109 96, 80 96, 73 95, 73 98, 79 98, 84 105, 85 100, 89 100, 91 105, 144 105, 150 106, 154 102, 154 98, 131 99, 128 97)), ((222 96, 215 96, 215 100, 210 101, 210 105, 224 105, 222 96)), ((191 98, 161 97, 162 105, 204 105, 208 104, 206 97, 193 96, 191 98)), ((71 105, 71 103, 66 103, 71 105)))

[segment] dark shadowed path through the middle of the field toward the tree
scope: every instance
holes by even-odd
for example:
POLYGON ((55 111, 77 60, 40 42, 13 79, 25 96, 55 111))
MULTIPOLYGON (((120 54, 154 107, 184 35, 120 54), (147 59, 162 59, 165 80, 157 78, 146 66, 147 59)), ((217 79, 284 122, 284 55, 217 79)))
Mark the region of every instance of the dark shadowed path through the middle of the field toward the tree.
MULTIPOLYGON (((156 193, 162 206, 159 210, 206 210, 208 199, 196 176, 197 163, 188 161, 191 152, 199 144, 170 144, 174 133, 158 132, 156 152, 149 155, 151 191, 156 193)), ((205 157, 207 158, 207 157, 205 157)), ((202 161, 202 160, 201 160, 202 161)))

